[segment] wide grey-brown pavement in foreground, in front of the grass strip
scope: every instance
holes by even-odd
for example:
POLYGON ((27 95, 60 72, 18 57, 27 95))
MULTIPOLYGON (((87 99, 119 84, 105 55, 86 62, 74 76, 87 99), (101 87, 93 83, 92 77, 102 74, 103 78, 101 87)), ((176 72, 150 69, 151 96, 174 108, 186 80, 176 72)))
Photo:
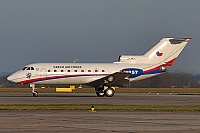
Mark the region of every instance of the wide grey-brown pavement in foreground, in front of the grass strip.
POLYGON ((199 133, 200 113, 0 111, 2 133, 199 133))

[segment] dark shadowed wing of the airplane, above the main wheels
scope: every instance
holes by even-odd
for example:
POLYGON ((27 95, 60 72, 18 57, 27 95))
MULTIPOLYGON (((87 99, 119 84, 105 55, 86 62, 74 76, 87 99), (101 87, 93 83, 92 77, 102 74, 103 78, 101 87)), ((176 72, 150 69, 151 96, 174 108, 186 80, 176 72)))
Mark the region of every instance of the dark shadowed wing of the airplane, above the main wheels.
POLYGON ((92 81, 88 83, 88 85, 92 87, 99 87, 102 85, 124 87, 129 82, 128 80, 129 76, 130 76, 130 73, 116 72, 106 77, 103 77, 101 79, 92 81))

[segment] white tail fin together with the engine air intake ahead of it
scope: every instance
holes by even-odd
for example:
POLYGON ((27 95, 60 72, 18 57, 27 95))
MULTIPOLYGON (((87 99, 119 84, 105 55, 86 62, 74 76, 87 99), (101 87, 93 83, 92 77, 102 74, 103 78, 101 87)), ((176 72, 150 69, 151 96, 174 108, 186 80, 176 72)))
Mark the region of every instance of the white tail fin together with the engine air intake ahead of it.
POLYGON ((121 55, 120 63, 141 63, 172 66, 188 41, 192 38, 163 38, 142 56, 121 55))

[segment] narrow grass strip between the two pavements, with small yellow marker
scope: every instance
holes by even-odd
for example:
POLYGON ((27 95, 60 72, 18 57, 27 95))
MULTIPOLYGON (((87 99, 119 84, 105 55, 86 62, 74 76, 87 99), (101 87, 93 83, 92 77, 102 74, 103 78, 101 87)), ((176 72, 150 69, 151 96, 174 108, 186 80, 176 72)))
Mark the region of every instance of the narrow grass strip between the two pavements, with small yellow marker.
MULTIPOLYGON (((97 111, 155 111, 155 112, 200 112, 200 105, 93 105, 97 111)), ((89 110, 91 105, 42 104, 0 105, 0 110, 89 110)))

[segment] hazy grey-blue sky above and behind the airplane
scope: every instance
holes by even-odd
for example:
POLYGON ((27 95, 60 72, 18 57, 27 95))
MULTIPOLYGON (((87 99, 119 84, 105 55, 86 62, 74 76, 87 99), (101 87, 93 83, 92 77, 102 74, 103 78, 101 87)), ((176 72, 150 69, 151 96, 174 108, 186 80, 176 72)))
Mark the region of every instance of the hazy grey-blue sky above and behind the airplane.
POLYGON ((0 72, 36 62, 114 62, 194 37, 170 71, 200 73, 199 0, 0 0, 0 72))

